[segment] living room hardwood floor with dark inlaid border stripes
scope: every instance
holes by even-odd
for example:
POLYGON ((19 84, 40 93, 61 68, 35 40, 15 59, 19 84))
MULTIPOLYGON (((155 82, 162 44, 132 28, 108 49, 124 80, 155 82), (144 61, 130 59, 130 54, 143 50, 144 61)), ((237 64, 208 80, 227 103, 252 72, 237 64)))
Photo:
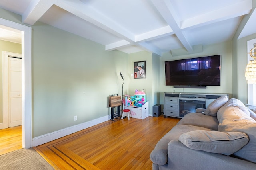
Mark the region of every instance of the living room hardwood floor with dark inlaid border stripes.
POLYGON ((34 149, 55 169, 149 170, 150 152, 179 120, 161 115, 106 121, 34 149))

